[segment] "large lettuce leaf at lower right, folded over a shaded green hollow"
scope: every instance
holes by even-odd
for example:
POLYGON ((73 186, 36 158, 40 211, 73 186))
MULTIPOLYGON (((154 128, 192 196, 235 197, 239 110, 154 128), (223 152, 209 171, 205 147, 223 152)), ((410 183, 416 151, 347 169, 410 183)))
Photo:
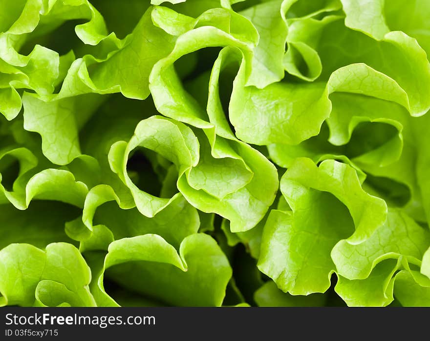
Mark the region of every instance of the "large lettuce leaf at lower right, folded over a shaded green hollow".
POLYGON ((317 167, 297 159, 282 176, 281 192, 292 212, 272 210, 258 268, 292 295, 325 292, 336 270, 333 247, 367 240, 386 220, 387 205, 362 189, 353 168, 334 160, 317 167))

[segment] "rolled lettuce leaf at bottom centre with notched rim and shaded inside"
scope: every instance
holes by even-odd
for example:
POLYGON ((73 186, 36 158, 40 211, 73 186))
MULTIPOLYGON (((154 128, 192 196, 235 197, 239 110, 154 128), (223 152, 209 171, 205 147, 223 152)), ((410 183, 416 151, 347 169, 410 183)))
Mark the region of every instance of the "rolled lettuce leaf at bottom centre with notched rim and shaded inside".
POLYGON ((118 305, 104 289, 104 278, 136 294, 168 305, 219 306, 232 270, 210 236, 193 234, 175 248, 158 235, 146 234, 114 241, 92 291, 104 304, 118 305), (140 274, 136 278, 135 273, 140 274))

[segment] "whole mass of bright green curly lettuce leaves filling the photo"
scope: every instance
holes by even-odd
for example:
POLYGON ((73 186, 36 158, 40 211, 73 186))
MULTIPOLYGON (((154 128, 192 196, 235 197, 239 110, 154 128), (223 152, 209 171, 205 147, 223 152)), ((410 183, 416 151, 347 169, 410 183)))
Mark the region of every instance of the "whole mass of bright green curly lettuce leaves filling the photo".
POLYGON ((430 305, 427 0, 0 13, 1 306, 430 305))

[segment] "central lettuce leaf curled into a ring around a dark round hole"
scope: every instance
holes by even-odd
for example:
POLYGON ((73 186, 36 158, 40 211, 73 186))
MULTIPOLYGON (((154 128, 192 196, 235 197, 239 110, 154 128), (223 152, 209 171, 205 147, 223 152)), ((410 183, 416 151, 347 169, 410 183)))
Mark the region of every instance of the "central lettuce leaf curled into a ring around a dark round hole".
POLYGON ((257 151, 236 149, 227 140, 218 144, 218 155, 214 155, 207 137, 204 134, 197 136, 183 123, 171 119, 152 117, 143 120, 128 143, 120 141, 112 145, 110 166, 129 187, 137 209, 144 216, 153 217, 183 195, 197 209, 215 212, 231 220, 232 231, 251 229, 263 218, 275 198, 276 170, 257 151), (127 160, 129 153, 138 146, 153 150, 173 162, 178 172, 179 193, 170 199, 159 198, 140 190, 131 181, 127 160), (265 176, 262 166, 268 168, 265 176), (271 179, 267 180, 267 174, 271 179), (271 186, 267 188, 267 191, 272 190, 270 197, 263 199, 254 194, 257 181, 271 186))

